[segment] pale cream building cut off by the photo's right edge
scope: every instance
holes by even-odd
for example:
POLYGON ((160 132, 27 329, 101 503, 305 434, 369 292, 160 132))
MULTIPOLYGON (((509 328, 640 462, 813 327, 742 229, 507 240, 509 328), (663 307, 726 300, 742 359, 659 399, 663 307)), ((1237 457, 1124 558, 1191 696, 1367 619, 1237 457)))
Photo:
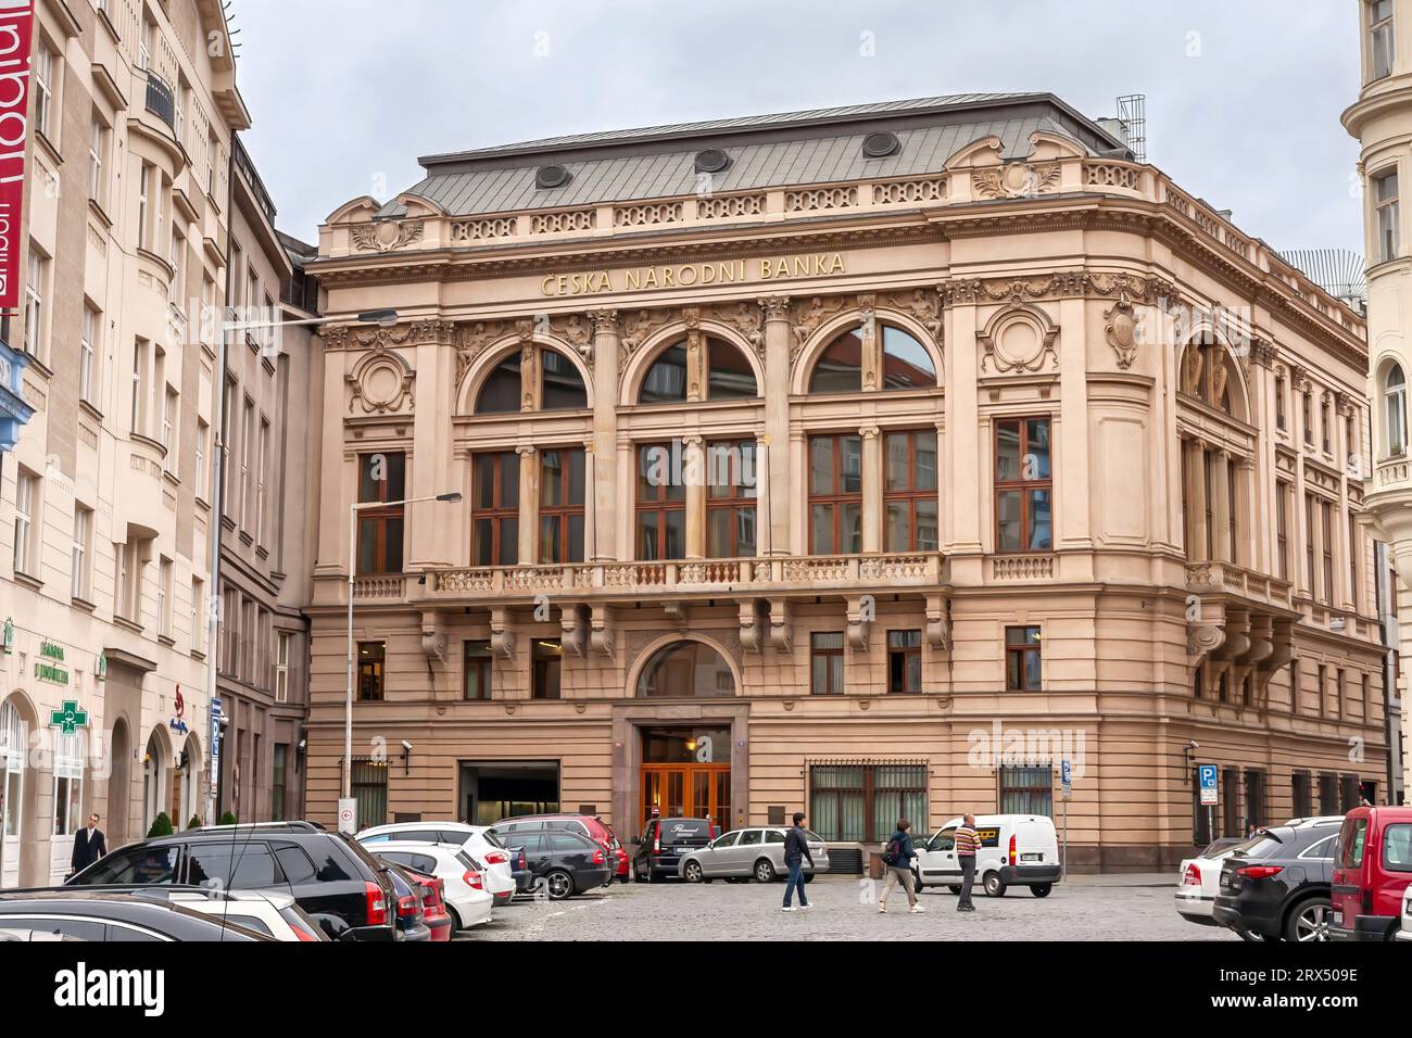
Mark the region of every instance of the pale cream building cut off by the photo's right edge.
MULTIPOLYGON (((1363 86, 1343 113, 1360 145, 1368 271, 1368 383, 1372 415, 1372 466, 1365 475, 1364 514, 1388 544, 1396 579, 1389 610, 1396 658, 1412 651, 1412 459, 1408 458, 1408 374, 1412 373, 1412 253, 1401 185, 1412 184, 1412 3, 1358 0, 1363 86)), ((1406 696, 1406 675, 1394 668, 1406 696)), ((1404 789, 1412 787, 1406 746, 1412 719, 1402 713, 1404 789)))

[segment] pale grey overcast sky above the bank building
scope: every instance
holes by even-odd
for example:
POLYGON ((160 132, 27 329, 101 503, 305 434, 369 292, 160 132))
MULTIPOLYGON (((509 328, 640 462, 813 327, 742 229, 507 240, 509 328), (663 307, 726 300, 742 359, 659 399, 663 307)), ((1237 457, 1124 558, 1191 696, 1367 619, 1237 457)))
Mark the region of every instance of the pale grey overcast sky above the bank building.
POLYGON ((1363 251, 1348 0, 234 0, 246 144, 281 227, 418 155, 991 90, 1091 117, 1147 95, 1148 161, 1276 249, 1363 251))

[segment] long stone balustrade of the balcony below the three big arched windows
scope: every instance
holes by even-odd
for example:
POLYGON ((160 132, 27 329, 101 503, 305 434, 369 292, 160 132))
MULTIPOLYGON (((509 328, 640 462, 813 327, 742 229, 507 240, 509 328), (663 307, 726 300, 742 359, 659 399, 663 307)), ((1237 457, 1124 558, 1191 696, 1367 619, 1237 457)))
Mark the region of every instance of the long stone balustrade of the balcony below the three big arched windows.
POLYGON ((816 593, 820 586, 931 587, 946 579, 946 559, 939 552, 803 555, 439 569, 426 573, 425 585, 412 585, 400 575, 359 578, 353 595, 357 600, 397 600, 414 587, 424 600, 515 599, 549 592, 583 597, 796 589, 816 593))

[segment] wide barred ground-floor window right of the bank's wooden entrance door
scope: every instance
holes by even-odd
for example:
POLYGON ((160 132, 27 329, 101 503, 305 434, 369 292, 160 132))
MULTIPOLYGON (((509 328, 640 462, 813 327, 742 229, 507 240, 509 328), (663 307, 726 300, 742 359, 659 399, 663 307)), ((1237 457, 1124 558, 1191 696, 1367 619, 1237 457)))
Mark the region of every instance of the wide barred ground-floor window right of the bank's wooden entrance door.
POLYGON ((825 840, 881 843, 899 818, 925 828, 926 765, 815 764, 809 768, 809 823, 825 840))

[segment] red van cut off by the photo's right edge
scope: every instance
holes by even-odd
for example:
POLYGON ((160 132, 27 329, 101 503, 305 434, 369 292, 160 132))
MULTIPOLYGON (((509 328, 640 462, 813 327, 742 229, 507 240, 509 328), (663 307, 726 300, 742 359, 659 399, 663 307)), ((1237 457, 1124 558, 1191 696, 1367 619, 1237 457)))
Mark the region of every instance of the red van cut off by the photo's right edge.
POLYGON ((1391 941, 1412 883, 1412 808, 1350 811, 1333 874, 1334 941, 1391 941))

